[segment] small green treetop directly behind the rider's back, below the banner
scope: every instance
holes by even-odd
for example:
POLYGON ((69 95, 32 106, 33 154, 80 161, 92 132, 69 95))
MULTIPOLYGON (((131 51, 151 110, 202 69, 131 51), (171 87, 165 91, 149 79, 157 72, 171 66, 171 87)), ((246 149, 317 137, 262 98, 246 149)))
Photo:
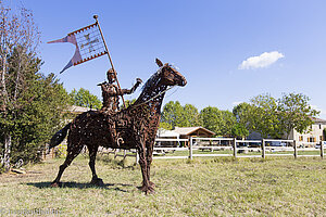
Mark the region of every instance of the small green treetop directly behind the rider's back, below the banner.
POLYGON ((102 102, 95 94, 91 94, 89 90, 80 88, 78 91, 74 89, 71 93, 72 104, 83 107, 91 107, 100 110, 102 107, 102 102))

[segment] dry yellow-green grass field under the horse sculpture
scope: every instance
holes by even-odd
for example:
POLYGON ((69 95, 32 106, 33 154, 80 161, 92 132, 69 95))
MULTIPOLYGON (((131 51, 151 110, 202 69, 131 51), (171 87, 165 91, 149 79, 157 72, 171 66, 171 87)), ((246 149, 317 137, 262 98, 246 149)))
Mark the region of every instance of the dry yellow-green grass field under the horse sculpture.
POLYGON ((0 175, 0 215, 54 209, 60 216, 326 216, 326 161, 319 157, 155 159, 156 193, 145 195, 135 159, 97 161, 105 187, 88 184, 77 157, 62 188, 49 188, 64 159, 0 175))

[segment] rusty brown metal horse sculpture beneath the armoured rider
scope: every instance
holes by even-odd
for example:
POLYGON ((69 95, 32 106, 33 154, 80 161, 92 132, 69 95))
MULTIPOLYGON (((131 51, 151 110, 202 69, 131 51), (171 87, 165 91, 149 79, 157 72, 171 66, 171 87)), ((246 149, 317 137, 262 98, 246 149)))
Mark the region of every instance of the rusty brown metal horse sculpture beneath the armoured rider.
POLYGON ((50 148, 60 144, 67 131, 67 156, 60 166, 52 187, 60 186, 64 169, 80 153, 84 145, 89 151, 89 167, 92 173, 91 183, 102 184, 95 168, 98 148, 137 149, 142 174, 141 191, 151 193, 154 183, 150 181, 150 166, 154 139, 161 118, 162 101, 168 86, 185 86, 187 80, 174 67, 162 64, 156 59, 160 69, 145 84, 136 102, 116 113, 85 112, 58 131, 51 139, 50 148))

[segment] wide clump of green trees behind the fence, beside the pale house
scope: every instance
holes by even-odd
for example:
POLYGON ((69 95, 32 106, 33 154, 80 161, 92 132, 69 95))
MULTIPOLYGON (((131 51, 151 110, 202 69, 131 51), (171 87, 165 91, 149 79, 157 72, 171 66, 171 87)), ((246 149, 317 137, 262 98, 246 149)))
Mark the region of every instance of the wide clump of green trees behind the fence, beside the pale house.
POLYGON ((302 93, 283 94, 280 99, 260 94, 252 98, 250 103, 235 106, 233 113, 240 126, 260 132, 263 138, 288 137, 292 129, 302 133, 313 124, 312 117, 318 112, 309 105, 309 100, 302 93))

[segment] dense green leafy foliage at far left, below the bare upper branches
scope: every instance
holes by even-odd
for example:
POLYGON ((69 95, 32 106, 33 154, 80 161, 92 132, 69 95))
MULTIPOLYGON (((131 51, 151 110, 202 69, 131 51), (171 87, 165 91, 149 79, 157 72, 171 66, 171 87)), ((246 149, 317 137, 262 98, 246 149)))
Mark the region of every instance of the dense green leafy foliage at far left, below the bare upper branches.
MULTIPOLYGON (((14 61, 14 60, 12 60, 14 61)), ((38 73, 41 61, 30 59, 28 68, 22 73, 22 86, 16 89, 13 79, 15 67, 10 68, 7 87, 8 94, 15 100, 0 113, 0 135, 10 133, 12 138, 11 161, 26 162, 39 159, 40 151, 50 136, 61 125, 62 111, 67 104, 67 93, 54 75, 38 73), (16 98, 14 98, 16 95, 16 98)))

